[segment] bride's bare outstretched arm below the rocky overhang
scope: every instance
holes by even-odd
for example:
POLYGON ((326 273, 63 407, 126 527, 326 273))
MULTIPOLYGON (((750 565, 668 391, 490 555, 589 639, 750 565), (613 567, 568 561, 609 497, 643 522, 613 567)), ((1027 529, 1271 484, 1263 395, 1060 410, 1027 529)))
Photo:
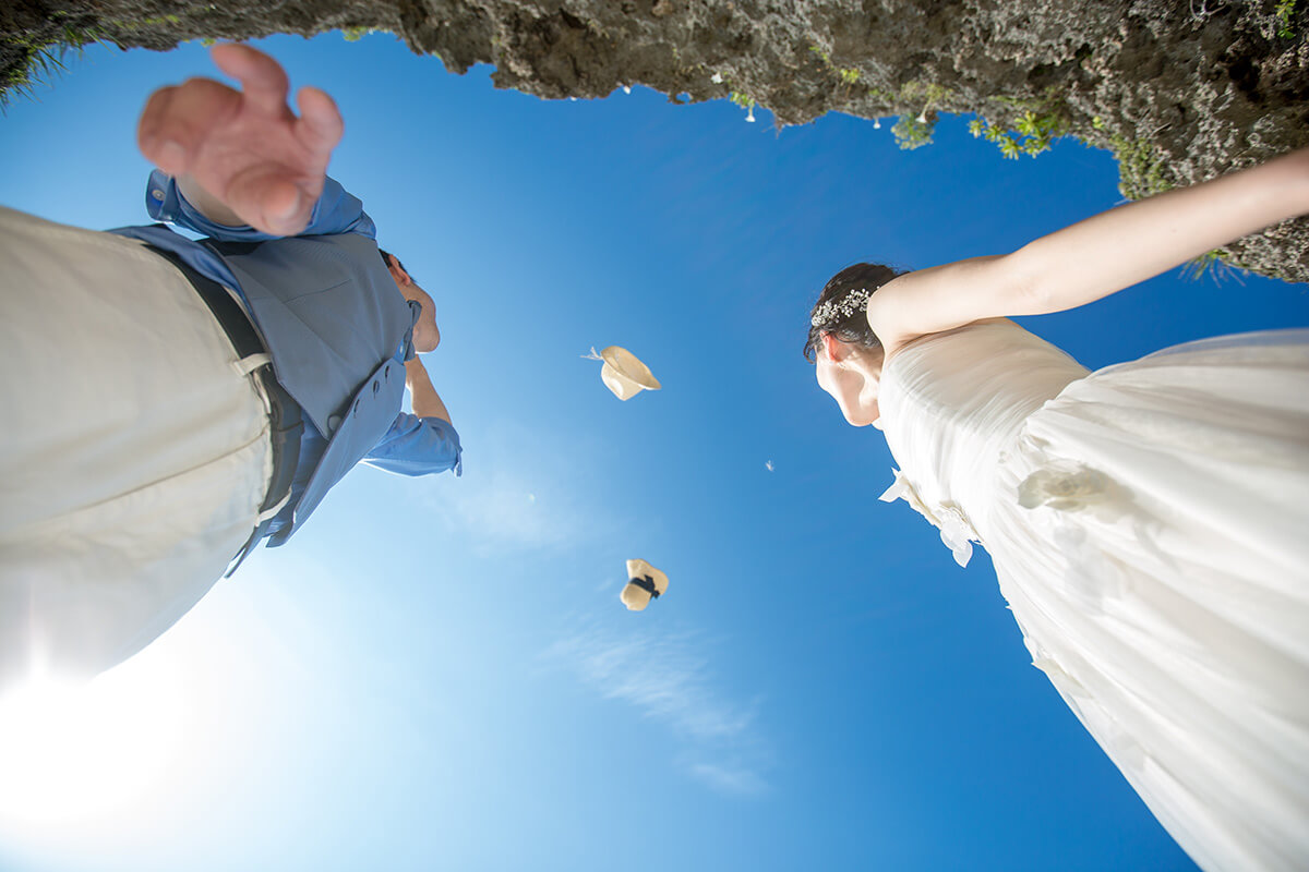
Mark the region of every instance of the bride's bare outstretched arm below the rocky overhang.
POLYGON ((983 318, 1075 309, 1309 212, 1309 149, 1102 212, 1011 255, 902 276, 868 301, 888 352, 983 318))

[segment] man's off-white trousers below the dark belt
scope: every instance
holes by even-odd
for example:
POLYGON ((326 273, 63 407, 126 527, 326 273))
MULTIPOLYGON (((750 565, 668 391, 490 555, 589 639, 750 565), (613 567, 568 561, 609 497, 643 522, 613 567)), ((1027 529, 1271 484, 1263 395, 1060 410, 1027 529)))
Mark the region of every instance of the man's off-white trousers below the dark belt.
POLYGON ((0 207, 0 692, 107 669, 223 575, 272 465, 247 370, 141 243, 0 207))

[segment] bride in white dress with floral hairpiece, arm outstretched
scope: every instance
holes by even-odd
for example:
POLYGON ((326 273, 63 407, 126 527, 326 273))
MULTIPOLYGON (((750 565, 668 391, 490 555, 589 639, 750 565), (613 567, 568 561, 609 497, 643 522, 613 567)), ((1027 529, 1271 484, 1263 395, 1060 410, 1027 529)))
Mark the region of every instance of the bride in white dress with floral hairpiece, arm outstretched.
MULTIPOLYGON (((1309 869, 1309 331, 1088 373, 1005 319, 1309 212, 1309 149, 1009 255, 823 289, 805 357, 1033 663, 1204 869, 1309 869)), ((1130 326, 1124 326, 1130 329, 1130 326)))

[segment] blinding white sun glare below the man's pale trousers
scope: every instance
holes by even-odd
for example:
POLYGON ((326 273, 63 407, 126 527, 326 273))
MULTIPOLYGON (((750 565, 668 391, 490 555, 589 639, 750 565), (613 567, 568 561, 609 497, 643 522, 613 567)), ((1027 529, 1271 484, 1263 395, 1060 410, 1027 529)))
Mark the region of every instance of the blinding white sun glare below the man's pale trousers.
POLYGON ((164 677, 115 671, 0 696, 0 824, 131 814, 181 746, 183 701, 164 677))

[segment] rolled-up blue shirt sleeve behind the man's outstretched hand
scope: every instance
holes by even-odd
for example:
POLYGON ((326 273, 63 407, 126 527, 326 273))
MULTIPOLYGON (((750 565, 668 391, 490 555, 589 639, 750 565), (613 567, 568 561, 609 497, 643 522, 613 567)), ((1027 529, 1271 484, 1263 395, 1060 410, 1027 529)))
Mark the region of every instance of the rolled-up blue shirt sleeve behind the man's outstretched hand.
MULTIPOLYGON (((264 239, 279 238, 262 230, 255 230, 250 225, 229 227, 209 221, 182 196, 182 192, 177 190, 177 180, 161 170, 153 170, 149 184, 145 186, 145 210, 156 221, 175 224, 179 227, 186 227, 187 230, 194 230, 215 239, 263 242, 264 239)), ((327 176, 323 182, 322 196, 314 204, 309 226, 301 230, 298 235, 325 237, 336 233, 357 233, 369 239, 376 239, 377 225, 364 212, 364 204, 359 197, 346 191, 340 186, 340 182, 327 176)))

